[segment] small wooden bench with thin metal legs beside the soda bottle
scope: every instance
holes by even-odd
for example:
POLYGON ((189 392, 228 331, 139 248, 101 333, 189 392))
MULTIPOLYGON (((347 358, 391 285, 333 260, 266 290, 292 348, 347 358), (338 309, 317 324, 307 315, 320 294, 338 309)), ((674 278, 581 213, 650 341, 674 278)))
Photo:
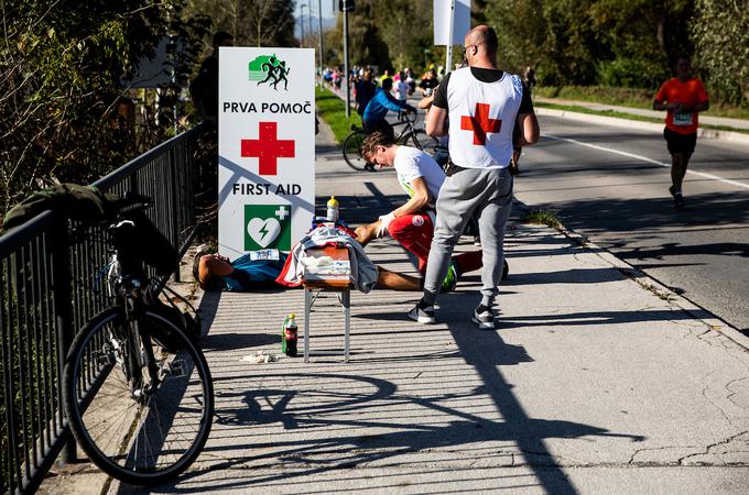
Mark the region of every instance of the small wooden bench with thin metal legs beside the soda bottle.
POLYGON ((314 248, 306 250, 304 286, 304 362, 310 362, 310 318, 312 306, 323 292, 340 293, 344 307, 344 361, 348 362, 351 318, 351 265, 347 248, 314 248))

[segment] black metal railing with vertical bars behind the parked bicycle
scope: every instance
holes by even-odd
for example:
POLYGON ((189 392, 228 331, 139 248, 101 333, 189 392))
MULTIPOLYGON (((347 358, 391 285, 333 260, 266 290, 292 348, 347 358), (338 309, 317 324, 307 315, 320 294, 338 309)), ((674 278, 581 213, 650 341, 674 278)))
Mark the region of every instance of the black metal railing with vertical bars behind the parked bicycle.
MULTIPOLYGON (((146 215, 180 255, 215 167, 196 158, 200 134, 180 134, 94 184, 153 198, 146 215)), ((107 305, 96 280, 110 253, 100 228, 74 239, 69 227, 46 211, 0 237, 0 493, 32 493, 61 452, 75 460, 62 371, 75 332, 107 305)))

